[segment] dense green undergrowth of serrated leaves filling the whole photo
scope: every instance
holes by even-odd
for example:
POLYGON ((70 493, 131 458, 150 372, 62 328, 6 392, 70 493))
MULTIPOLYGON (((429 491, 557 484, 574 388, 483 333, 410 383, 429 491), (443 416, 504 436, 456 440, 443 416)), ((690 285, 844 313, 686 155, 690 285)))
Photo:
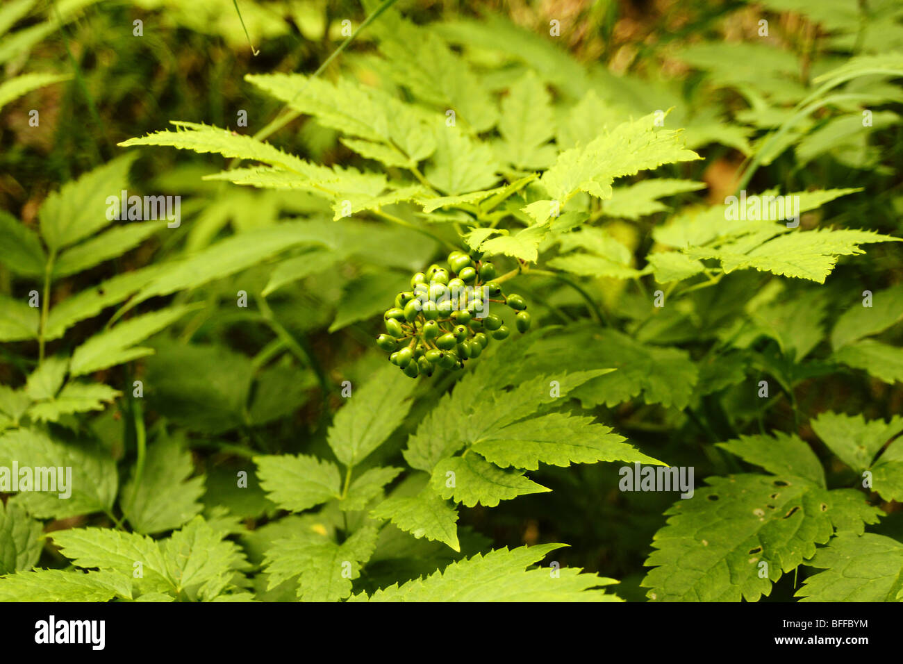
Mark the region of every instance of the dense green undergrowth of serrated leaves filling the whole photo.
POLYGON ((898 5, 241 9, 0 9, 0 600, 903 600, 898 5))

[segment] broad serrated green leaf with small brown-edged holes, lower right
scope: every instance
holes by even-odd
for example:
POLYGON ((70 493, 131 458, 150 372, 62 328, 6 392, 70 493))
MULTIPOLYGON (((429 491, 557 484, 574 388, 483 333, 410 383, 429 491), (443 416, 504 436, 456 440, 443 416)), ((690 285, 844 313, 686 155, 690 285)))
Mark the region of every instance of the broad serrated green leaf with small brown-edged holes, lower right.
POLYGON ((666 511, 646 561, 654 569, 641 584, 652 588, 650 599, 756 602, 833 534, 831 492, 801 478, 748 474, 706 482, 666 511))

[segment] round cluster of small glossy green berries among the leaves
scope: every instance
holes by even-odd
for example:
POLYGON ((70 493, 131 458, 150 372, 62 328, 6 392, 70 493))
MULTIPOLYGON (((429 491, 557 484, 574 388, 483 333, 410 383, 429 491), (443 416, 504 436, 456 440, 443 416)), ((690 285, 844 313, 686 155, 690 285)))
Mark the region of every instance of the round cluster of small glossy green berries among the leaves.
POLYGON ((511 331, 489 313, 490 303, 517 312, 518 332, 530 328, 524 298, 502 292, 493 281, 495 266, 461 251, 449 254, 448 265, 433 264, 415 274, 411 290, 396 295, 395 306, 383 314, 387 333, 377 337, 377 345, 411 378, 432 376, 436 367, 462 369, 464 360, 479 357, 490 337, 506 339, 511 331))

